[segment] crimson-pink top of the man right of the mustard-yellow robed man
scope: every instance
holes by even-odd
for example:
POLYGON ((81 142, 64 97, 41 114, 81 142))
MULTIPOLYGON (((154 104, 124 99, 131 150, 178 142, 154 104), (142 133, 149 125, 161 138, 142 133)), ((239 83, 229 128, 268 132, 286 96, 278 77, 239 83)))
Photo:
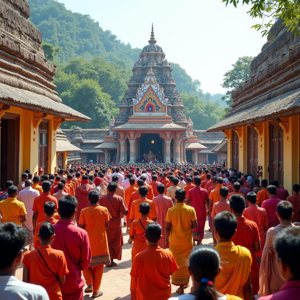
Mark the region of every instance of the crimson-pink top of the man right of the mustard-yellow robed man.
POLYGON ((190 206, 195 208, 197 219, 206 218, 206 199, 208 199, 208 191, 202 187, 194 187, 187 193, 190 198, 190 206))

